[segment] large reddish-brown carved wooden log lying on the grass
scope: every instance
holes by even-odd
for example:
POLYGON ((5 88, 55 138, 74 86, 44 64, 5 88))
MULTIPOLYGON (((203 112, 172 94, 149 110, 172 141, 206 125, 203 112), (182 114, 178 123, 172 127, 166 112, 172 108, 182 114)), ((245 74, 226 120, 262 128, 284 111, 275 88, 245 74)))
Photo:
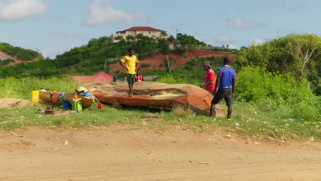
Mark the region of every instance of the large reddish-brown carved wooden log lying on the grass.
MULTIPOLYGON (((189 106, 196 112, 209 114, 213 95, 198 86, 190 84, 163 84, 158 82, 136 82, 132 97, 128 96, 128 84, 115 86, 105 83, 88 83, 82 85, 104 104, 126 106, 156 106, 172 108, 176 105, 189 106)), ((224 117, 221 106, 215 107, 217 116, 224 117)))

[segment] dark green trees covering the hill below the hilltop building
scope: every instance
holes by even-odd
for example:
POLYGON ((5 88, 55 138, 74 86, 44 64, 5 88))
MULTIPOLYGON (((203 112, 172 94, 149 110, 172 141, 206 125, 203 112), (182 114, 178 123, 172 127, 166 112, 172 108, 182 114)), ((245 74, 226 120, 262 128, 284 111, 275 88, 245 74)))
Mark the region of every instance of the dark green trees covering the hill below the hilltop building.
MULTIPOLYGON (((163 36, 167 35, 165 31, 163 31, 162 34, 163 36)), ((159 40, 154 40, 153 38, 143 36, 143 34, 137 35, 135 41, 130 40, 130 37, 128 37, 127 40, 120 38, 117 43, 111 43, 110 38, 107 36, 92 38, 88 41, 87 45, 75 47, 56 56, 54 59, 43 58, 41 56, 37 62, 21 63, 12 67, 5 67, 0 64, 0 76, 25 77, 32 75, 60 77, 63 75, 92 75, 104 69, 106 59, 120 58, 126 55, 128 53, 128 47, 134 48, 139 58, 144 58, 145 56, 151 56, 158 52, 169 53, 169 43, 174 40, 176 39, 173 36, 166 39, 160 38, 159 40)), ((204 42, 187 34, 178 34, 178 43, 180 42, 198 46, 206 45, 204 42)), ((7 47, 11 46, 6 45, 7 47)), ((5 50, 1 47, 0 49, 1 51, 5 50)), ((10 49, 16 48, 11 46, 10 49)), ((19 47, 18 49, 21 48, 19 47)), ((187 49, 180 49, 180 51, 187 51, 187 49)), ((25 52, 29 52, 29 50, 25 50, 25 52)), ((107 62, 107 65, 109 63, 110 62, 107 62)), ((105 71, 106 73, 109 72, 108 69, 105 69, 105 71)))

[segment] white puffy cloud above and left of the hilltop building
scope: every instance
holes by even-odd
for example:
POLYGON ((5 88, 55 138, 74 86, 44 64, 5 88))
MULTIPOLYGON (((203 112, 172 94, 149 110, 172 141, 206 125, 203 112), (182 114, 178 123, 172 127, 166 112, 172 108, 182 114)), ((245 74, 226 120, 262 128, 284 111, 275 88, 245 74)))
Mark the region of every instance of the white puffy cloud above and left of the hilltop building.
POLYGON ((105 8, 102 8, 102 0, 94 0, 93 3, 89 5, 89 14, 86 18, 86 24, 91 26, 104 25, 106 23, 114 23, 114 22, 125 22, 132 23, 133 21, 141 21, 147 20, 147 16, 145 16, 142 12, 136 12, 134 14, 128 14, 128 12, 124 12, 121 10, 116 10, 110 5, 106 5, 105 8))

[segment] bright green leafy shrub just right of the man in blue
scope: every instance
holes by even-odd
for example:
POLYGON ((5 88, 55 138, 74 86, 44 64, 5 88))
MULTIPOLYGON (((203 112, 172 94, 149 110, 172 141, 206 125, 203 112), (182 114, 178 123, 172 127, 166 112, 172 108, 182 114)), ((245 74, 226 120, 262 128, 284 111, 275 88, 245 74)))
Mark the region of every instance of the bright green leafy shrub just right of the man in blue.
POLYGON ((272 74, 247 66, 237 73, 236 84, 238 101, 255 102, 266 111, 284 109, 300 119, 320 119, 320 97, 308 90, 306 81, 299 82, 290 73, 272 74))

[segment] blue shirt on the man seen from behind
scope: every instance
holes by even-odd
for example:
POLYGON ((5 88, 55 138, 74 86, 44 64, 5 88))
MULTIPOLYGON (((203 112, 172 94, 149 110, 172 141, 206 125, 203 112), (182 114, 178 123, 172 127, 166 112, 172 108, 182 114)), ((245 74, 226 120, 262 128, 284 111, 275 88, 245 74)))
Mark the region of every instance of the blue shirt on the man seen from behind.
POLYGON ((229 67, 228 65, 224 65, 219 67, 217 77, 221 76, 219 80, 219 90, 224 90, 225 88, 232 88, 233 85, 233 77, 235 77, 235 70, 229 67))

